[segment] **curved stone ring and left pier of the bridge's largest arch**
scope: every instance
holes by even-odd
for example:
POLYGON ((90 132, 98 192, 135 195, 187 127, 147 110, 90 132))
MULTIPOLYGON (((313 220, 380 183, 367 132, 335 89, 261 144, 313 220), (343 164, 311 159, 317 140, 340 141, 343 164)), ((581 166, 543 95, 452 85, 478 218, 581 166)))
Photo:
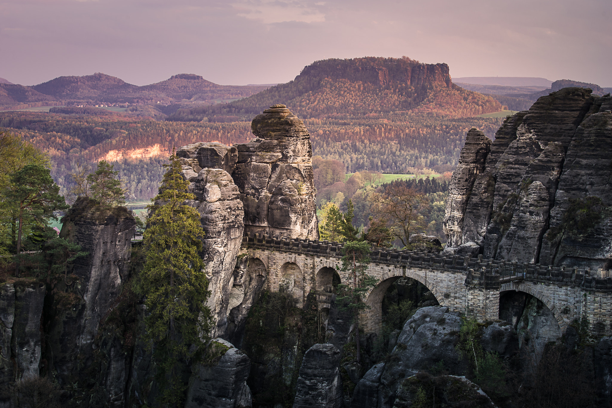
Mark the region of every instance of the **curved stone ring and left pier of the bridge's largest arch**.
POLYGON ((385 272, 379 276, 378 285, 367 292, 366 305, 370 306, 364 313, 360 314, 359 320, 364 327, 365 333, 378 333, 383 327, 383 298, 389 286, 401 277, 412 278, 424 284, 427 289, 436 297, 439 305, 444 306, 444 296, 432 282, 428 281, 424 275, 414 272, 414 270, 395 269, 385 272))

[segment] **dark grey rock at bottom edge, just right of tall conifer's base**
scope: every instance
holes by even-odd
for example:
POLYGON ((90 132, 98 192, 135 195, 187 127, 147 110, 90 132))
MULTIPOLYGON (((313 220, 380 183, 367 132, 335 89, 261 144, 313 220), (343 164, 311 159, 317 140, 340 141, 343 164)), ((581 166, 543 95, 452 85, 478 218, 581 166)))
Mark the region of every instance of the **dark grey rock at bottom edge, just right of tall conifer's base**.
POLYGON ((251 362, 247 355, 223 339, 212 343, 221 356, 216 362, 192 368, 185 408, 250 408, 247 377, 251 362))

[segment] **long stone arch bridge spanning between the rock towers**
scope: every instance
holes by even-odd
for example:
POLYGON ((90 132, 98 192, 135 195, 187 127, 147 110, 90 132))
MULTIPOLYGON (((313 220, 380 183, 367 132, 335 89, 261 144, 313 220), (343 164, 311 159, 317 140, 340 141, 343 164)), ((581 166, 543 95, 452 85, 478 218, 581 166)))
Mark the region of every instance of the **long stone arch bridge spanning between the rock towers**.
MULTIPOLYGON (((248 256, 253 273, 263 274, 270 291, 283 289, 303 305, 315 292, 319 308, 329 307, 334 275, 352 281, 341 270, 342 244, 337 242, 244 236, 241 256, 248 256)), ((612 335, 612 277, 604 270, 566 269, 517 264, 470 256, 442 256, 373 247, 368 275, 378 285, 367 294, 370 306, 359 317, 366 333, 378 332, 387 288, 402 276, 424 284, 438 303, 479 322, 499 318, 500 296, 520 291, 542 301, 556 317, 561 332, 575 319, 587 319, 595 335, 612 335)))

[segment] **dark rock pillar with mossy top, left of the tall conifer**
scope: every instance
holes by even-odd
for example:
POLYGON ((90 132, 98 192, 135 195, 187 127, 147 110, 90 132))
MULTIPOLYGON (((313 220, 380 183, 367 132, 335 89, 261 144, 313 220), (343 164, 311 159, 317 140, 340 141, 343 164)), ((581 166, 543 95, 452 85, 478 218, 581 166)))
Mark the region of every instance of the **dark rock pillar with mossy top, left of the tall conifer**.
POLYGON ((94 352, 100 319, 129 277, 135 220, 125 207, 101 209, 80 198, 64 218, 60 236, 78 243, 88 255, 77 258, 72 275, 54 281, 45 307, 46 358, 60 384, 80 380, 94 352))

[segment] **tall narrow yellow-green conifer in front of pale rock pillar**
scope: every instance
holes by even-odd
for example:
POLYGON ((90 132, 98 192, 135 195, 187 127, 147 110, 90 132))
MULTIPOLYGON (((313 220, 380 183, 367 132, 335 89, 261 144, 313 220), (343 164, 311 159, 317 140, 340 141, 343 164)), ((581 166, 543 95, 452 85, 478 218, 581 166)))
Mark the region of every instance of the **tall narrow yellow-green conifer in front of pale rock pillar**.
POLYGON ((156 202, 149 206, 143 237, 146 255, 137 289, 146 296, 146 338, 159 364, 161 401, 168 406, 184 398, 183 365, 204 354, 211 325, 211 312, 204 305, 209 292, 200 258, 200 213, 183 204, 194 197, 187 193, 176 155, 170 162, 156 202))

